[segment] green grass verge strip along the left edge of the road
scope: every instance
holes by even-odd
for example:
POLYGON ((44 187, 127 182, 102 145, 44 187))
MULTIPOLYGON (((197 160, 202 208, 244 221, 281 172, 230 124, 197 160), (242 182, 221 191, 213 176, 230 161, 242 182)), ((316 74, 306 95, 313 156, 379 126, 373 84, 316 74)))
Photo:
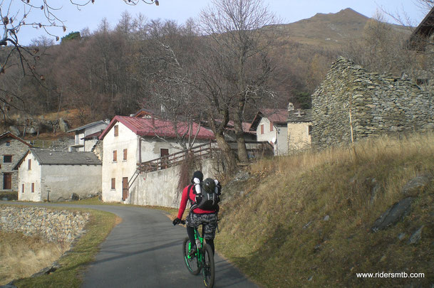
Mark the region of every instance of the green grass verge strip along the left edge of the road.
POLYGON ((91 220, 86 225, 86 234, 79 238, 73 248, 58 260, 61 268, 51 274, 19 279, 14 282, 16 287, 80 287, 82 281, 81 272, 83 272, 86 265, 95 259, 98 245, 105 240, 116 223, 116 216, 112 213, 100 210, 86 211, 91 212, 91 220))

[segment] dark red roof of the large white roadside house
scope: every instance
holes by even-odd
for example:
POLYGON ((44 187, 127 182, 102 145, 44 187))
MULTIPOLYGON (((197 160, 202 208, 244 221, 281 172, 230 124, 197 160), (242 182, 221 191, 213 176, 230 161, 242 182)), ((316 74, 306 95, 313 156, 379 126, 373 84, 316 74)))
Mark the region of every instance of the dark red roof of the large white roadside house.
MULTIPOLYGON (((125 117, 125 116, 115 116, 108 127, 103 131, 100 135, 99 139, 103 139, 105 134, 114 126, 116 122, 120 122, 124 124, 128 129, 133 131, 135 134, 139 136, 148 136, 148 137, 168 137, 175 138, 177 137, 175 132, 175 127, 172 122, 164 121, 157 118, 137 118, 137 117, 125 117)), ((186 122, 178 122, 176 124, 178 134, 182 135, 188 131, 189 125, 186 122)), ((197 133, 197 139, 214 139, 214 133, 210 130, 205 129, 204 127, 199 127, 198 124, 192 124, 192 134, 195 135, 199 129, 199 133, 197 133)))

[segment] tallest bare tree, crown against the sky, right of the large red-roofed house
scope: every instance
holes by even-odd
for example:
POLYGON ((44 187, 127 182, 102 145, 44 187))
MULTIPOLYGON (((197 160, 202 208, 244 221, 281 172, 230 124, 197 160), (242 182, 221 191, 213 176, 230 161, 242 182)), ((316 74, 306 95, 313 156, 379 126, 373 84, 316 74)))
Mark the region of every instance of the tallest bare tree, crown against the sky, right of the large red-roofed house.
MULTIPOLYGON (((272 72, 269 41, 262 30, 276 18, 260 0, 213 0, 200 14, 202 33, 210 39, 210 50, 219 54, 226 67, 225 93, 232 96, 230 117, 234 122, 238 157, 248 161, 242 122, 246 105, 263 95, 272 72)), ((229 104, 229 103, 227 103, 229 104)))

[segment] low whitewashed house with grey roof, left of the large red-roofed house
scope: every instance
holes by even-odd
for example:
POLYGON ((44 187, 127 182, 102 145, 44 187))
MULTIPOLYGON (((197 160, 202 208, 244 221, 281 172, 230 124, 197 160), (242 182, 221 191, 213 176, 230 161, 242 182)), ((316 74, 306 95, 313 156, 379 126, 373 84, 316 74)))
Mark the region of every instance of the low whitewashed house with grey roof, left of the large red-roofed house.
POLYGON ((92 152, 29 149, 16 164, 19 201, 65 201, 101 191, 101 161, 92 152))

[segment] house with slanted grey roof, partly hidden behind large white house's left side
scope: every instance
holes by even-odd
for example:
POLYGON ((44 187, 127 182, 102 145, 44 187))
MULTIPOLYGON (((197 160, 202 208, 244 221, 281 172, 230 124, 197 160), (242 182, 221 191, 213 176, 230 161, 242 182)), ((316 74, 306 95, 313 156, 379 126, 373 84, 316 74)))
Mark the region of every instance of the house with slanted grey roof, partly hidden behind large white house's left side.
POLYGON ((91 151, 98 141, 101 132, 108 126, 110 121, 100 120, 97 122, 89 123, 76 129, 71 129, 68 132, 74 132, 74 144, 71 149, 76 151, 91 151))

